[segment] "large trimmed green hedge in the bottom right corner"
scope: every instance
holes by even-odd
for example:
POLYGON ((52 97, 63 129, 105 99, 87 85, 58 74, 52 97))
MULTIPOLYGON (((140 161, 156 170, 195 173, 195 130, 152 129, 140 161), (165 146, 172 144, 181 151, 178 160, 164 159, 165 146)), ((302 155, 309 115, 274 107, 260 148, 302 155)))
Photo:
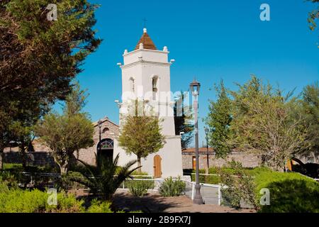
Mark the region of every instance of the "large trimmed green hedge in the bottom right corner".
POLYGON ((319 212, 319 183, 293 172, 262 172, 256 175, 257 199, 260 189, 270 192, 270 205, 261 206, 260 212, 319 212))

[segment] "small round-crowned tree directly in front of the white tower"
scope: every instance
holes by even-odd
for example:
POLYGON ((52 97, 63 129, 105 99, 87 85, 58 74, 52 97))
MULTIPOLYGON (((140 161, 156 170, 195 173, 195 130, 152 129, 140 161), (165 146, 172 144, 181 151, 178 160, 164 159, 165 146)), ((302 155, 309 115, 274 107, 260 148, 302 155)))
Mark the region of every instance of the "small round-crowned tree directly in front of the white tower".
POLYGON ((138 157, 138 166, 140 167, 140 159, 151 153, 157 153, 159 149, 163 148, 165 141, 164 135, 161 133, 159 118, 145 113, 144 104, 138 100, 133 101, 132 105, 132 107, 135 106, 134 111, 123 116, 124 124, 118 137, 118 145, 127 153, 135 154, 138 157))

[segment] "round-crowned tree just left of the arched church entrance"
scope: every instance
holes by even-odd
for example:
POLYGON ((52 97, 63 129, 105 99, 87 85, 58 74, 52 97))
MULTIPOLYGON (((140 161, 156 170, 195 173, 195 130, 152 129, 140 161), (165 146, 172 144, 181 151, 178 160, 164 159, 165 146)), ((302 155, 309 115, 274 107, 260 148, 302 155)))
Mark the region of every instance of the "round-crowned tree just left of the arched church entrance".
POLYGON ((75 151, 94 145, 94 126, 87 114, 80 112, 85 98, 85 92, 75 84, 67 96, 63 114, 47 114, 35 128, 40 140, 51 148, 62 174, 67 172, 69 159, 75 151))

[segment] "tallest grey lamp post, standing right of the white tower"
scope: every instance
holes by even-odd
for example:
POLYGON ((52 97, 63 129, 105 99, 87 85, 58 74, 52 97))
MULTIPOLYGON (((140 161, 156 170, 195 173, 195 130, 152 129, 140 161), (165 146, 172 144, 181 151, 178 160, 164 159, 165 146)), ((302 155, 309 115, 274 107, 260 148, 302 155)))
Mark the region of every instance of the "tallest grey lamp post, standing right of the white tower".
POLYGON ((198 94, 201 84, 194 79, 190 84, 191 94, 194 96, 193 106, 194 106, 194 121, 195 121, 195 152, 196 152, 196 184, 195 184, 195 196, 194 204, 203 204, 203 198, 201 197, 201 184, 199 184, 199 155, 198 155, 198 94))

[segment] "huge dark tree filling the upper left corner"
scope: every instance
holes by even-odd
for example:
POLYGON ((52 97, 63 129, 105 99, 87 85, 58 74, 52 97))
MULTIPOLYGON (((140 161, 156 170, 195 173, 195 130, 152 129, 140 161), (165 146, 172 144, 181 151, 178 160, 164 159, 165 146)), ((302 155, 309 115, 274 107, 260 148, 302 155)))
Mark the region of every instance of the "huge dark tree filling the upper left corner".
POLYGON ((69 93, 69 82, 101 43, 92 29, 96 7, 86 0, 0 1, 0 112, 7 118, 0 121, 0 153, 18 140, 7 123, 28 127, 69 93), (48 4, 57 4, 57 21, 47 21, 48 4))

